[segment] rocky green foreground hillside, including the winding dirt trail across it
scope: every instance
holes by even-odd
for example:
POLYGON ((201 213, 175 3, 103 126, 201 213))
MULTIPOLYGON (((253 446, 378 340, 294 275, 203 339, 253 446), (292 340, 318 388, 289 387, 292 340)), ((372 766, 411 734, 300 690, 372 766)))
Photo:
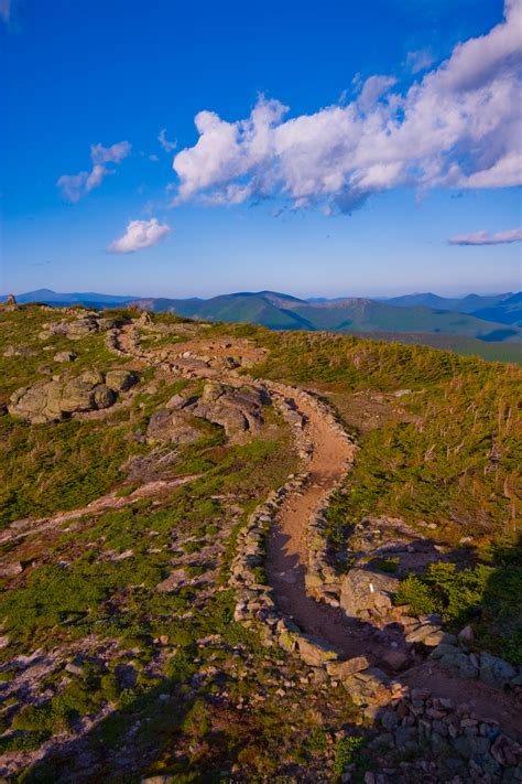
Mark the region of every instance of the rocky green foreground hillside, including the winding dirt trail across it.
POLYGON ((40 305, 0 368, 0 775, 510 781, 520 368, 40 305))

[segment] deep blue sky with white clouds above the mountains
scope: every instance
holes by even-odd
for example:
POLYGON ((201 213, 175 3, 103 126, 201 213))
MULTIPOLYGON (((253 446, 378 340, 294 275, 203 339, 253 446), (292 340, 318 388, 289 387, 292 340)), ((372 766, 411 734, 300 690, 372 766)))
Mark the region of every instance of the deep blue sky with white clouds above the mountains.
POLYGON ((520 11, 0 0, 0 290, 520 288, 520 11))

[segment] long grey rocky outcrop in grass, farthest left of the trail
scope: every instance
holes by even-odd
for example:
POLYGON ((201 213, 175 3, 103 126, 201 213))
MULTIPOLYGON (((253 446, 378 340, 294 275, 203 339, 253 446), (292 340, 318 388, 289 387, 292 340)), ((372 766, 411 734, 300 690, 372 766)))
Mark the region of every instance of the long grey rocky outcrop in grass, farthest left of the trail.
MULTIPOLYGON (((127 370, 117 373, 127 374, 132 378, 132 383, 137 380, 135 376, 127 370)), ((77 378, 54 379, 32 387, 22 387, 11 395, 8 410, 32 425, 41 425, 61 421, 80 411, 109 408, 116 401, 117 391, 122 387, 121 376, 118 376, 119 384, 113 389, 107 383, 110 380, 110 373, 108 375, 109 379, 99 370, 84 370, 77 378)), ((127 382, 126 388, 129 388, 128 384, 130 380, 127 382)))

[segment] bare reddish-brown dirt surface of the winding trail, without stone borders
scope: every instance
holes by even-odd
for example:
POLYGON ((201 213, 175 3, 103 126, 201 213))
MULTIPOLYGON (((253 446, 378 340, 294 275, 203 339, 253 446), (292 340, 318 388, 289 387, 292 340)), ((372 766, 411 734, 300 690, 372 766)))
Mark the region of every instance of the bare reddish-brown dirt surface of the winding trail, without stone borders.
MULTIPOLYGON (((131 329, 131 327, 130 327, 131 329)), ((129 327, 120 332, 122 351, 140 358, 143 364, 155 364, 151 352, 133 354, 129 327)), ((173 352, 175 354, 175 352, 173 352)), ((188 369, 188 368, 187 368, 188 369)), ((211 368, 195 367, 193 377, 218 378, 232 386, 251 384, 262 386, 248 376, 237 376, 211 368)), ((324 419, 316 408, 298 395, 297 389, 278 384, 279 394, 293 401, 305 418, 305 433, 312 443, 307 465, 309 481, 304 490, 290 493, 281 507, 276 525, 267 543, 265 568, 276 604, 307 634, 322 637, 342 651, 345 656, 365 654, 370 662, 387 668, 382 657, 391 649, 407 648, 400 629, 377 629, 355 617, 348 617, 340 608, 333 608, 306 593, 307 523, 324 506, 331 490, 346 476, 354 461, 355 447, 347 442, 324 419)), ((390 670, 389 670, 390 672, 390 670)), ((434 696, 447 697, 457 705, 467 704, 482 719, 492 719, 522 741, 520 707, 507 694, 480 681, 463 680, 442 670, 435 662, 425 661, 394 678, 410 687, 422 687, 434 696)))

